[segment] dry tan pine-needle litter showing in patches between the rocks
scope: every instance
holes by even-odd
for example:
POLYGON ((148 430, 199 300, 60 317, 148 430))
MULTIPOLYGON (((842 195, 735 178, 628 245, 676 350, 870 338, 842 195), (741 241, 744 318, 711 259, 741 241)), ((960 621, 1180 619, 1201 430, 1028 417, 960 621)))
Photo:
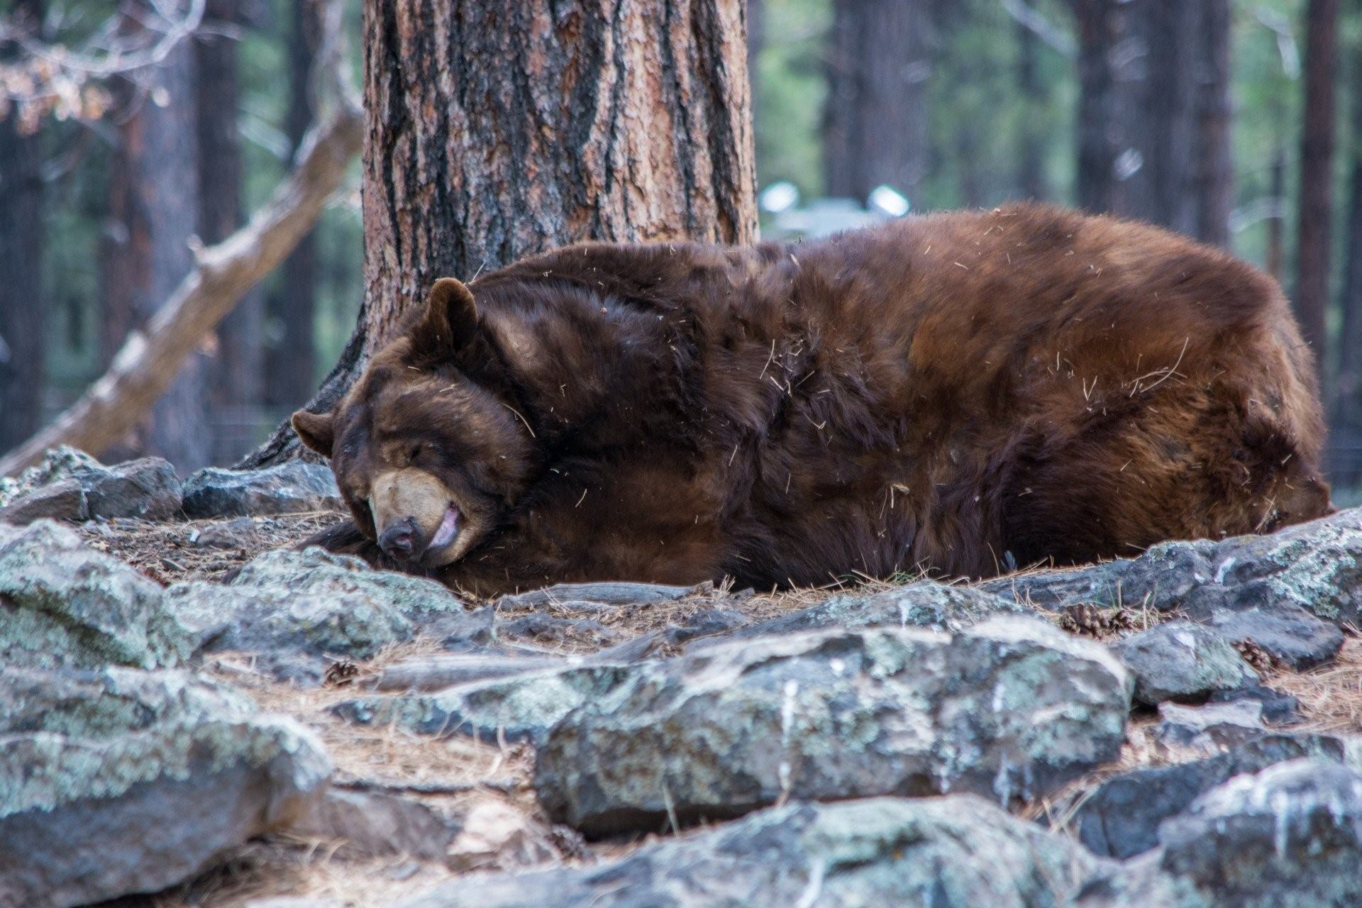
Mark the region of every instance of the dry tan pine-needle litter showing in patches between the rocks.
MULTIPOLYGON (((240 520, 155 524, 114 520, 99 525, 84 524, 78 530, 89 545, 131 564, 161 584, 169 584, 221 580, 226 572, 255 555, 296 545, 338 517, 335 513, 259 517, 249 521, 249 532, 240 531, 240 520), (199 545, 204 535, 218 542, 199 545)), ((889 588, 889 584, 868 584, 866 592, 877 588, 889 588)), ((839 592, 844 592, 844 588, 839 592)), ((725 609, 740 610, 749 619, 764 619, 805 609, 828 595, 828 589, 802 589, 735 596, 731 591, 716 589, 708 598, 680 599, 647 609, 617 609, 609 617, 599 611, 576 611, 571 603, 553 603, 549 609, 556 617, 605 622, 621 637, 636 637, 680 623, 689 613, 712 607, 718 599, 722 599, 725 609)), ((535 610, 526 607, 498 611, 498 619, 531 611, 535 610)), ((1065 622, 1060 623, 1064 626, 1065 622)), ((1077 628, 1073 622, 1066 623, 1071 632, 1076 630, 1083 636, 1099 640, 1113 636, 1102 622, 1077 628)), ((603 645, 606 644, 590 638, 568 637, 546 643, 542 648, 582 653, 603 645)), ((256 671, 248 655, 208 656, 203 672, 247 692, 263 709, 290 715, 312 728, 335 762, 334 787, 399 795, 428 805, 444 815, 467 815, 479 807, 492 807, 501 814, 509 811, 523 821, 524 829, 538 830, 528 834, 538 834, 543 848, 561 863, 590 863, 618 856, 656 839, 656 834, 648 834, 587 844, 571 829, 549 824, 531 787, 534 753, 530 745, 479 742, 464 736, 437 739, 398 727, 358 726, 328 712, 330 707, 362 692, 365 681, 375 678, 385 666, 434 652, 440 652, 439 641, 411 640, 391 647, 368 662, 354 663, 343 679, 323 686, 276 681, 256 671)), ((1272 670, 1264 675, 1263 683, 1299 700, 1305 723, 1293 726, 1291 731, 1357 732, 1362 728, 1362 638, 1357 634, 1350 634, 1332 664, 1308 672, 1272 670)), ((1204 756, 1151 746, 1148 732, 1155 721, 1152 711, 1136 713, 1129 724, 1121 758, 1072 783, 1068 791, 1091 788, 1095 780, 1136 766, 1204 756)), ((1050 824, 1064 825, 1064 814, 1073 806, 1073 799, 1065 798, 1065 794, 1061 791, 1050 799, 1030 805, 1027 815, 1041 818, 1047 814, 1050 824)), ((523 837, 513 837, 512 841, 513 844, 507 845, 508 852, 523 848, 523 837)), ((470 854, 473 856, 462 873, 515 870, 523 864, 515 854, 478 855, 475 844, 470 854)), ((535 866, 542 867, 543 863, 535 866)), ((189 883, 155 896, 120 898, 106 903, 106 908, 247 908, 257 901, 283 896, 304 897, 319 905, 377 908, 413 897, 458 875, 458 871, 437 860, 419 860, 409 855, 376 858, 345 841, 281 834, 249 843, 215 870, 189 883)))

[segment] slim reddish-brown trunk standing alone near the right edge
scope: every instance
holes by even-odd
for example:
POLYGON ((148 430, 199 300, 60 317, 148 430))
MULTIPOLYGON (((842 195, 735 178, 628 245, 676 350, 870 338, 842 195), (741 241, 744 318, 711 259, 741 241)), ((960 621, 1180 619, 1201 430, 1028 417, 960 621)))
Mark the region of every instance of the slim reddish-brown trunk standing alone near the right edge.
POLYGON ((1329 221, 1333 215, 1337 26, 1339 0, 1310 0, 1306 10, 1295 310, 1301 334, 1314 347, 1321 374, 1328 353, 1325 312, 1329 301, 1329 221))

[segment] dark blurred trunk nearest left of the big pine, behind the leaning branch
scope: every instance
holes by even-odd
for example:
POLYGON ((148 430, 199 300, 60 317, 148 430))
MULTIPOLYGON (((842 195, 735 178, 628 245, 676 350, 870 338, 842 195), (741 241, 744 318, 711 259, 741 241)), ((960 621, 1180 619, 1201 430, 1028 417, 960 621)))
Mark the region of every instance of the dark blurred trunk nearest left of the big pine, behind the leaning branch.
MULTIPOLYGON (((289 30, 289 112, 285 128, 294 155, 302 136, 316 118, 312 101, 312 67, 321 34, 317 8, 312 0, 293 4, 289 30)), ((278 406, 297 406, 316 389, 316 351, 313 319, 317 295, 317 238, 308 231, 283 263, 283 280, 270 301, 271 316, 278 321, 278 340, 270 348, 270 384, 266 400, 278 406)))

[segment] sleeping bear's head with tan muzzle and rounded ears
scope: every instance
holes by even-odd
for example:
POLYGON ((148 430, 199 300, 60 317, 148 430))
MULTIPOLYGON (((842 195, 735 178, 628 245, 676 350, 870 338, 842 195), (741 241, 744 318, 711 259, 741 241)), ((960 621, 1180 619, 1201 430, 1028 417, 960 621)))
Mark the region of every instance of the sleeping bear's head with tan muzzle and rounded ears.
POLYGON ((340 404, 293 429, 331 459, 358 528, 391 558, 440 568, 484 539, 528 487, 542 452, 473 293, 434 283, 340 404))

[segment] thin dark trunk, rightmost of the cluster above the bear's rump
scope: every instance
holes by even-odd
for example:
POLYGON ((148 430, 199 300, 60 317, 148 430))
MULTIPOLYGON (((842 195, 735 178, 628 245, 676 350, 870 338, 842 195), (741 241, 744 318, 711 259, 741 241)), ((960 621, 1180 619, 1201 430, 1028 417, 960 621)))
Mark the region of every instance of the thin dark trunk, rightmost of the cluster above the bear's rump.
POLYGON ((1230 0, 1204 0, 1197 84, 1197 237, 1230 248, 1234 162, 1230 154, 1230 0))

